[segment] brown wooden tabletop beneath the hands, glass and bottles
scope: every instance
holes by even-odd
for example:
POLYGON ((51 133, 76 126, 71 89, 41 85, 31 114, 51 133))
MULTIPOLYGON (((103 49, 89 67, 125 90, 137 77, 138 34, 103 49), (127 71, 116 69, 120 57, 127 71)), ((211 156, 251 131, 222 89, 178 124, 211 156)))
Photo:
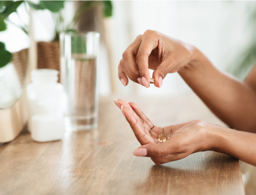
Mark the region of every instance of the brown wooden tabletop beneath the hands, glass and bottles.
MULTIPOLYGON (((120 98, 116 96, 113 98, 120 98)), ((100 99, 97 130, 36 143, 24 131, 0 145, 0 194, 244 194, 239 161, 198 152, 158 166, 135 157, 139 146, 113 98, 100 99)), ((155 125, 203 119, 220 123, 195 95, 124 97, 155 125)))

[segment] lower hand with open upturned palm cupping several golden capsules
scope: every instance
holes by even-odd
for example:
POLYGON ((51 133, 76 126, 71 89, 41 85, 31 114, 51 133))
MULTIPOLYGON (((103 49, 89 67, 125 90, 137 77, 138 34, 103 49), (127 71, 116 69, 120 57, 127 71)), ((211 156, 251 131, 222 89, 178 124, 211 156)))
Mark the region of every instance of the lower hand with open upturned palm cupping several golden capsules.
POLYGON ((180 160, 198 151, 211 150, 213 147, 211 132, 220 128, 204 121, 195 120, 167 127, 156 127, 146 117, 138 105, 122 100, 114 100, 129 122, 136 138, 142 146, 134 150, 135 156, 150 157, 157 165, 180 160), (165 143, 157 139, 162 132, 172 133, 165 143))

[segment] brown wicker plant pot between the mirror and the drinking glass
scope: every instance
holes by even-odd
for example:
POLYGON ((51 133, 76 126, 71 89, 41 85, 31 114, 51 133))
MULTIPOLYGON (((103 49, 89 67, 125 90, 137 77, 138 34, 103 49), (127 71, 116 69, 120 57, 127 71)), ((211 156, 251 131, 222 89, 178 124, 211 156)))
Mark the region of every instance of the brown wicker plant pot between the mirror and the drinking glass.
POLYGON ((37 43, 37 68, 52 68, 60 71, 59 42, 37 43))

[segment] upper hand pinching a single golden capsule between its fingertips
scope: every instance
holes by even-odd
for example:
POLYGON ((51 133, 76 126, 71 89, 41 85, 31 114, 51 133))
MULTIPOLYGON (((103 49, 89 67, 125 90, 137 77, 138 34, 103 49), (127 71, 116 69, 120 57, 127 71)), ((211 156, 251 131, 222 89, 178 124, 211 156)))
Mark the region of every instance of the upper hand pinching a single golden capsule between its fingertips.
POLYGON ((154 85, 161 87, 167 73, 177 72, 192 60, 192 45, 168 37, 154 30, 139 35, 123 53, 118 66, 118 77, 126 86, 129 77, 146 88, 149 87, 149 70, 153 72, 154 85))

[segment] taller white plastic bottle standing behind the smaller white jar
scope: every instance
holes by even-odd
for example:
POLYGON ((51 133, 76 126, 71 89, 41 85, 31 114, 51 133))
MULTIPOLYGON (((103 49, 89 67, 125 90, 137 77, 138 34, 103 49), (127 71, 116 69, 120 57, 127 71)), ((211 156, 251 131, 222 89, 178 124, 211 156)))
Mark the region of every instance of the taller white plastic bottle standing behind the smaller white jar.
POLYGON ((56 112, 63 115, 63 86, 58 81, 59 71, 55 69, 35 69, 31 71, 32 83, 27 85, 27 99, 30 119, 28 130, 31 131, 31 117, 37 114, 39 102, 51 101, 56 104, 56 112))

